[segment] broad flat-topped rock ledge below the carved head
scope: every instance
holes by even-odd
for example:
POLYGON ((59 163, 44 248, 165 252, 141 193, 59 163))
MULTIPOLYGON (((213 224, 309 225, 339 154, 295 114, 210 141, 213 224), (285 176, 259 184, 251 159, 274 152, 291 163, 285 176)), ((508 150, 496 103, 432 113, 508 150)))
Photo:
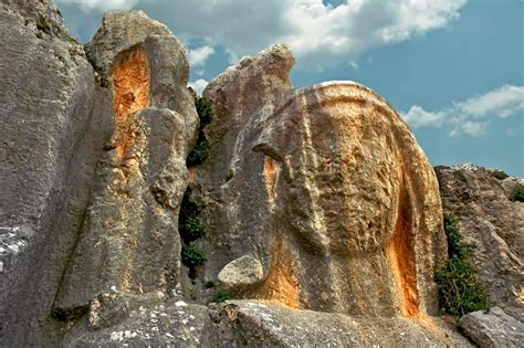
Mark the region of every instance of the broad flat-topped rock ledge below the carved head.
POLYGON ((350 317, 244 300, 227 302, 210 316, 203 347, 471 347, 430 317, 350 317))

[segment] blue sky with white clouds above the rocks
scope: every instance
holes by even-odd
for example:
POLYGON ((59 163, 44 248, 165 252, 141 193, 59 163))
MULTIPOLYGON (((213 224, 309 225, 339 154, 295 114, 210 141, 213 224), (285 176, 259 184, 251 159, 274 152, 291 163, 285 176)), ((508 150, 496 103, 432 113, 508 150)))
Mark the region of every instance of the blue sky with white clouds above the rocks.
POLYGON ((191 85, 277 42, 296 87, 363 83, 405 117, 433 165, 524 177, 522 0, 55 0, 88 42, 108 10, 142 9, 181 39, 191 85))

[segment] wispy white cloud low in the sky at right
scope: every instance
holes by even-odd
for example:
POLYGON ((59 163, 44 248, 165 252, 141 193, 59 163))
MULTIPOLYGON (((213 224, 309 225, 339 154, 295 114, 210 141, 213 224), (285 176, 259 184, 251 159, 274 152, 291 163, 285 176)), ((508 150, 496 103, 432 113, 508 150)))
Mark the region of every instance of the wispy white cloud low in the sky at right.
POLYGON ((413 128, 450 128, 450 136, 468 134, 474 137, 488 133, 489 118, 506 118, 524 112, 524 86, 504 85, 501 88, 476 95, 451 107, 428 112, 418 105, 411 106, 402 118, 413 128))

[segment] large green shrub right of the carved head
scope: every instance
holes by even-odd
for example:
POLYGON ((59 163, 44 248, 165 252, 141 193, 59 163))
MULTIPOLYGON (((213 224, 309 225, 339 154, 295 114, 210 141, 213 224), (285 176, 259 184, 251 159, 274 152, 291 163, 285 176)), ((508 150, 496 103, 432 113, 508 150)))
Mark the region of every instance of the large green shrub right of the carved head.
POLYGON ((458 317, 470 312, 489 309, 488 292, 476 282, 472 257, 475 245, 462 241, 459 224, 452 214, 444 215, 449 259, 437 270, 441 313, 458 317))

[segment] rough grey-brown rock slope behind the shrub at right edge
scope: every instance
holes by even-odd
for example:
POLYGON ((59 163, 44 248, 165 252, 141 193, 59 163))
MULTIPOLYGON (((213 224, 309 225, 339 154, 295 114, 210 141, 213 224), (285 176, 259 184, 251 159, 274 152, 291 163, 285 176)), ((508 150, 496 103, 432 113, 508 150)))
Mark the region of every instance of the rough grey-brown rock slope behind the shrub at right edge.
POLYGON ((437 167, 442 204, 459 219, 464 240, 476 245, 479 281, 493 305, 524 320, 524 203, 510 192, 524 180, 497 180, 473 165, 437 167))

